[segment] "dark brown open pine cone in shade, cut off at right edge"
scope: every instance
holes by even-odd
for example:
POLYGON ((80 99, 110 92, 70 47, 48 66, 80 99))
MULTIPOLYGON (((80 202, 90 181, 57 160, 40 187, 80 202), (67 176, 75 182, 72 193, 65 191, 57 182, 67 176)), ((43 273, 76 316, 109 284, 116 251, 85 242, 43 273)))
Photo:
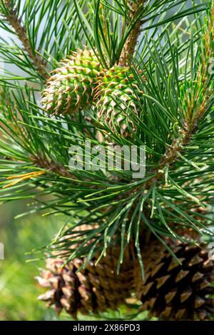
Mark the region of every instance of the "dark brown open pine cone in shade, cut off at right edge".
POLYGON ((135 269, 136 292, 142 309, 166 320, 209 319, 214 312, 214 263, 203 244, 195 246, 166 239, 182 265, 160 242, 152 242, 143 252, 146 281, 135 269))

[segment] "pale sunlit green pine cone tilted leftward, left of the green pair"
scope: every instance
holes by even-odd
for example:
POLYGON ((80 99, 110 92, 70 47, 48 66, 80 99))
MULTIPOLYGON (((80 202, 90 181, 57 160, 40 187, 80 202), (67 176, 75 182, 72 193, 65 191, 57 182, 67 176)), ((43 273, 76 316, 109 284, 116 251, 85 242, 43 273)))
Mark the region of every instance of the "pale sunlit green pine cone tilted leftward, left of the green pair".
POLYGON ((41 100, 44 109, 49 113, 73 114, 88 108, 100 71, 101 63, 93 51, 73 53, 46 83, 41 100))

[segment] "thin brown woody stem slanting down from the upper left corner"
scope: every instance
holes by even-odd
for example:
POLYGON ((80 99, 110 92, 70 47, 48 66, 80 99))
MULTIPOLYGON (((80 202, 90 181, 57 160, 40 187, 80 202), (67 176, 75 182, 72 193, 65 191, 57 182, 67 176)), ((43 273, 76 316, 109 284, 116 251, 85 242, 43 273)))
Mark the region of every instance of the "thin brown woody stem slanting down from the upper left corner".
POLYGON ((11 0, 4 0, 4 6, 6 7, 6 11, 4 12, 6 21, 8 21, 9 25, 16 32, 16 35, 24 46, 26 53, 34 63, 36 70, 39 71, 44 79, 48 78, 49 76, 46 71, 46 62, 43 58, 41 58, 41 56, 39 56, 37 53, 38 51, 32 50, 31 43, 29 42, 29 38, 26 33, 26 27, 21 24, 21 19, 19 19, 17 15, 16 8, 13 8, 11 0))

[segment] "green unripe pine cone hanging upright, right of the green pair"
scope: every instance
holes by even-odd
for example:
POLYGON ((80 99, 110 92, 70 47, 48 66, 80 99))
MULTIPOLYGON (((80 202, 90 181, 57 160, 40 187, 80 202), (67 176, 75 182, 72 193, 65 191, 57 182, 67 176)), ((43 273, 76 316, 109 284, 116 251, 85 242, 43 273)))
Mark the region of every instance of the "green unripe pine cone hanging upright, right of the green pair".
POLYGON ((96 88, 98 118, 123 137, 136 131, 132 114, 138 115, 138 98, 142 96, 130 68, 114 66, 103 73, 96 88), (138 98, 136 97, 138 96, 138 98))

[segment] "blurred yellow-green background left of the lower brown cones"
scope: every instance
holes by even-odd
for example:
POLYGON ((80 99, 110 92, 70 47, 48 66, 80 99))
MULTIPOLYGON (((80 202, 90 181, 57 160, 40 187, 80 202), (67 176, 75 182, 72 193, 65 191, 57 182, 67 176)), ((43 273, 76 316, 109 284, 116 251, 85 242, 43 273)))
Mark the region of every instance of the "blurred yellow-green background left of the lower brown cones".
POLYGON ((26 252, 48 243, 60 223, 39 215, 14 220, 24 207, 22 202, 0 206, 0 241, 5 249, 5 259, 0 261, 0 320, 57 319, 54 310, 36 299, 42 289, 34 277, 45 262, 26 262, 36 257, 26 252))

